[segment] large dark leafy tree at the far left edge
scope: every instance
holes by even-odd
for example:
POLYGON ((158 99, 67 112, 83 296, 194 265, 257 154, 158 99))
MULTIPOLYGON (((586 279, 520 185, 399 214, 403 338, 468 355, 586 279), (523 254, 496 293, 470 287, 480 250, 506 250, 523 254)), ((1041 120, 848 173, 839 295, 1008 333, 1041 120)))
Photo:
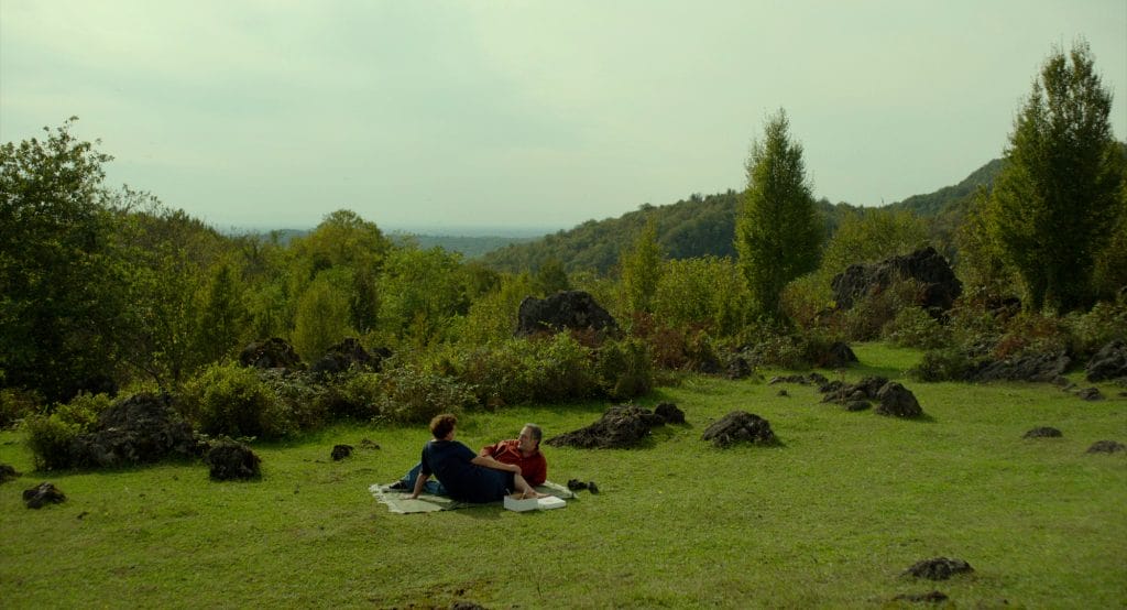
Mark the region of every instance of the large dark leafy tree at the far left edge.
POLYGON ((0 380, 52 401, 114 375, 107 329, 122 301, 103 186, 112 158, 76 139, 74 121, 0 147, 0 380))

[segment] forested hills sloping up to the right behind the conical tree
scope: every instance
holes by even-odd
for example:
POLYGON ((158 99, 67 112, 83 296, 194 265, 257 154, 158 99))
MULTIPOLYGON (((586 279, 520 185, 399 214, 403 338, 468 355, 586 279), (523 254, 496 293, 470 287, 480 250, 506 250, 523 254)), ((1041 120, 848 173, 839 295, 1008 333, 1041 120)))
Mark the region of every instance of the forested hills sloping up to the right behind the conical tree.
MULTIPOLYGON (((988 187, 1002 167, 994 159, 979 167, 962 182, 925 195, 913 195, 891 203, 890 210, 906 210, 921 216, 938 216, 937 237, 947 238, 966 213, 965 203, 979 186, 988 187)), ((568 272, 592 269, 601 273, 618 264, 620 251, 629 247, 649 219, 657 224, 658 242, 673 259, 711 256, 735 256, 736 213, 742 193, 728 191, 716 195, 693 194, 668 205, 642 205, 637 211, 602 221, 588 220, 574 229, 523 244, 509 244, 481 256, 481 262, 498 271, 538 269, 550 262, 568 272)), ((843 218, 862 209, 846 204, 818 202, 826 229, 832 235, 843 218)))

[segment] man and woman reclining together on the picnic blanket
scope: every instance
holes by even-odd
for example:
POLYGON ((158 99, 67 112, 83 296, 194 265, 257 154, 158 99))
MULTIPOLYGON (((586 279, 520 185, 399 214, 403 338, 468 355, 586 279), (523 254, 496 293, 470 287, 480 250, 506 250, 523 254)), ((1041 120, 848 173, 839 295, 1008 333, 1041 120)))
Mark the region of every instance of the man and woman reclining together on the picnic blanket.
POLYGON ((477 454, 454 440, 456 426, 458 418, 449 413, 431 419, 434 439, 423 445, 419 463, 391 488, 409 489, 411 498, 427 492, 477 503, 497 502, 513 493, 522 498, 547 496, 533 488, 548 478, 540 426, 525 424, 520 437, 486 445, 477 454), (438 480, 428 480, 432 476, 438 480))

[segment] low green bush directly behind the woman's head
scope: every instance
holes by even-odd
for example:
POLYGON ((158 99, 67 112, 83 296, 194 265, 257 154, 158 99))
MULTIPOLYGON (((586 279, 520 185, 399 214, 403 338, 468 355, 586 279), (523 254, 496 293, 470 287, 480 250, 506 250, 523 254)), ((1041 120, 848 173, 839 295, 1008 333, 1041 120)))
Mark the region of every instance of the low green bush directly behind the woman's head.
POLYGON ((474 403, 470 387, 417 364, 400 364, 380 373, 378 419, 419 424, 440 413, 458 413, 474 403))

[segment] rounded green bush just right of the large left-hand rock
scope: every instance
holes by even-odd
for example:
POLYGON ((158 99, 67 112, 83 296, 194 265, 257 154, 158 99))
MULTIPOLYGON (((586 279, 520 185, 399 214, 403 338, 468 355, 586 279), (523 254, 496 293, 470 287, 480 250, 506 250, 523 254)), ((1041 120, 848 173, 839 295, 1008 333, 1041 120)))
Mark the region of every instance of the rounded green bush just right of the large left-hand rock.
POLYGON ((290 405, 254 369, 211 364, 184 387, 185 415, 196 430, 231 437, 281 437, 298 431, 290 405))

